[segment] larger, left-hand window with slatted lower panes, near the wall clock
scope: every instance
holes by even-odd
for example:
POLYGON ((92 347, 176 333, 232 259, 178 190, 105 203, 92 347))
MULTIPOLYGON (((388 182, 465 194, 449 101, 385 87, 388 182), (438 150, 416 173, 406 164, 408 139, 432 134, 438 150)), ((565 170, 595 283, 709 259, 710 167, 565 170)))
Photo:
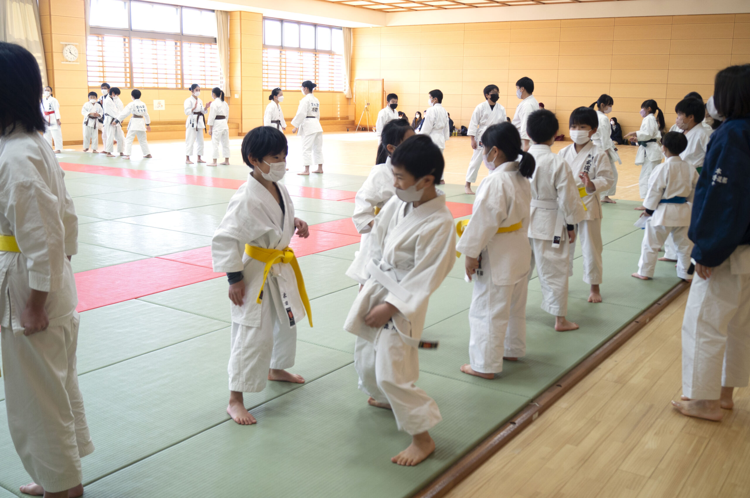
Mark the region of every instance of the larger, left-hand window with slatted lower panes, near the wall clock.
POLYGON ((213 10, 91 0, 89 19, 89 86, 102 82, 123 88, 221 86, 213 10))

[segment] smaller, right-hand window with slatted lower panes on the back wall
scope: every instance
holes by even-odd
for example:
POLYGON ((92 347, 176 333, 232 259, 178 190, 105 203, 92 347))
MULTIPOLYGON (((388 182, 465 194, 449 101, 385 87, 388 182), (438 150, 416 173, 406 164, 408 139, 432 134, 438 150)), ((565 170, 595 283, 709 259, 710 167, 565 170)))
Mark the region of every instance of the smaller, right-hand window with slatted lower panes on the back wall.
POLYGON ((298 90, 305 80, 317 91, 344 92, 341 28, 263 19, 263 88, 298 90))

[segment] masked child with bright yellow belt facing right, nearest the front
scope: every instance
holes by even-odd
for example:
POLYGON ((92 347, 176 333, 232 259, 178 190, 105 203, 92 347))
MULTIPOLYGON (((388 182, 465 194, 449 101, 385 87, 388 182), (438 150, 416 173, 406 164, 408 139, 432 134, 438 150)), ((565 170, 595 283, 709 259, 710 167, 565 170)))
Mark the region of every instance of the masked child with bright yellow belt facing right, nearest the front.
POLYGON ((260 392, 267 380, 305 383, 290 374, 297 346, 296 323, 313 325, 305 282, 294 251, 295 234, 307 238, 308 223, 294 216, 292 198, 279 183, 286 172, 287 138, 269 126, 242 140, 248 181, 229 200, 211 242, 214 272, 226 272, 232 311, 229 405, 239 425, 257 421, 243 392, 260 392))

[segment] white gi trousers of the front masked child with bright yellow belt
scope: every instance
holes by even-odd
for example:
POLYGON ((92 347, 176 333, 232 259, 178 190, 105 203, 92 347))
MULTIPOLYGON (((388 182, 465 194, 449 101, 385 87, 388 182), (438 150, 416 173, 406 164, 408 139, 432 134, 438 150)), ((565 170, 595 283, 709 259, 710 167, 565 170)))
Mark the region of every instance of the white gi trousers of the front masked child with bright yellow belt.
MULTIPOLYGON (((269 276, 269 278, 271 278, 269 276)), ((245 296, 255 299, 255 296, 245 296)), ((297 327, 289 320, 279 320, 277 307, 281 297, 263 292, 260 326, 251 327, 232 323, 232 343, 229 354, 229 391, 260 392, 266 388, 269 368, 286 370, 294 366, 297 353, 297 327)), ((284 315, 287 314, 283 311, 284 315)))

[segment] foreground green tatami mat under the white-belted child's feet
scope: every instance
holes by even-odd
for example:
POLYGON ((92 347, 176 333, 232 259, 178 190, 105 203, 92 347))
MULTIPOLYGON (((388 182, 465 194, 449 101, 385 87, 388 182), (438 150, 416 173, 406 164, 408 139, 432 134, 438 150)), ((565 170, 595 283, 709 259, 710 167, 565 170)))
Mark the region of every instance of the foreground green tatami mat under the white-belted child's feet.
MULTIPOLYGON (((226 422, 86 487, 87 496, 409 496, 526 404, 422 374, 443 422, 437 451, 416 467, 391 463, 410 443, 389 410, 370 407, 353 365, 253 410, 258 425, 226 422)), ((93 455, 92 455, 93 456, 93 455)))

